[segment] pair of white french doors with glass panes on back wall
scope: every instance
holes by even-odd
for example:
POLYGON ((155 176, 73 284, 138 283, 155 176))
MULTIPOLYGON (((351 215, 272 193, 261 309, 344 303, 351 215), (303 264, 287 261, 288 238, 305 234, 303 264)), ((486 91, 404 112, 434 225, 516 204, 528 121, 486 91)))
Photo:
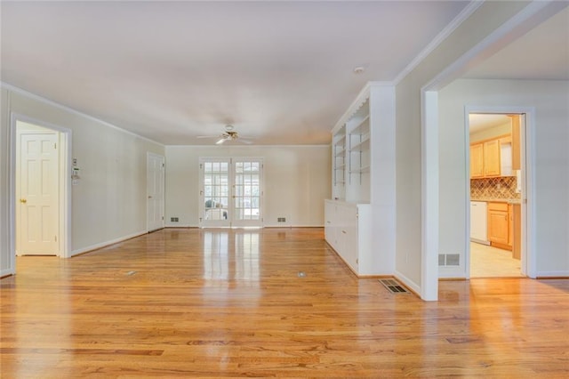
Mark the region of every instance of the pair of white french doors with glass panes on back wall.
POLYGON ((202 157, 200 226, 262 226, 261 158, 202 157))

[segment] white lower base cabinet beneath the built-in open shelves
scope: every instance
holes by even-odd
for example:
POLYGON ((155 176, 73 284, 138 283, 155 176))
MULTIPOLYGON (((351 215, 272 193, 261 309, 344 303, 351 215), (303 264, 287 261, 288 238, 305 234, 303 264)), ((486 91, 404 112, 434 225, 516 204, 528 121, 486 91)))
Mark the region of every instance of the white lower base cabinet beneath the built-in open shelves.
POLYGON ((358 276, 373 275, 369 204, 325 200, 325 239, 358 276))

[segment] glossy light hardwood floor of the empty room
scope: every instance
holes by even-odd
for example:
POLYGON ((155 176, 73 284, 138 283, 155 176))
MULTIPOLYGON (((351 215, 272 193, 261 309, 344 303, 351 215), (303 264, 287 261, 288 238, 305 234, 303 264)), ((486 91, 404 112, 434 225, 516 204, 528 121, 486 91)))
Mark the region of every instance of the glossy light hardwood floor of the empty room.
POLYGON ((17 261, 3 378, 569 376, 568 280, 442 281, 422 302, 357 279, 322 229, 169 229, 17 261))

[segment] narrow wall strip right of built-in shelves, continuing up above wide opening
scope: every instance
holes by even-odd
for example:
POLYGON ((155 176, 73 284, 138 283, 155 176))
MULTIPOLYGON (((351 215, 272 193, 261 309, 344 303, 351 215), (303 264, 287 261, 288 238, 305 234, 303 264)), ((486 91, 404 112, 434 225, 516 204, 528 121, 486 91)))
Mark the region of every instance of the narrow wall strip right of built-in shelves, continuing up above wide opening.
MULTIPOLYGON (((523 2, 485 2, 421 60, 396 87, 397 237, 396 275, 414 290, 421 285, 421 89, 496 28, 523 9, 523 2)), ((428 173, 429 174, 429 173, 428 173)), ((433 258, 433 259, 436 259, 433 258)))

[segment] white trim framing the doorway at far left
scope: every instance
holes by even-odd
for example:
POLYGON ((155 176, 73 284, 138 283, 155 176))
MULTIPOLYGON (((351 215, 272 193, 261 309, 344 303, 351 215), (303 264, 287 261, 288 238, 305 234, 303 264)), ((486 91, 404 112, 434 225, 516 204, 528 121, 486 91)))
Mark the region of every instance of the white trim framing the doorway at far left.
MULTIPOLYGON (((9 248, 12 258, 16 256, 16 127, 17 122, 38 125, 47 129, 51 129, 60 133, 60 240, 59 240, 59 254, 61 258, 69 257, 69 246, 71 246, 71 130, 61 127, 59 125, 52 125, 50 123, 38 120, 33 117, 28 117, 20 113, 11 112, 10 117, 10 167, 9 167, 9 212, 10 212, 10 233, 9 233, 9 248)), ((15 264, 13 266, 15 268, 15 264)))

